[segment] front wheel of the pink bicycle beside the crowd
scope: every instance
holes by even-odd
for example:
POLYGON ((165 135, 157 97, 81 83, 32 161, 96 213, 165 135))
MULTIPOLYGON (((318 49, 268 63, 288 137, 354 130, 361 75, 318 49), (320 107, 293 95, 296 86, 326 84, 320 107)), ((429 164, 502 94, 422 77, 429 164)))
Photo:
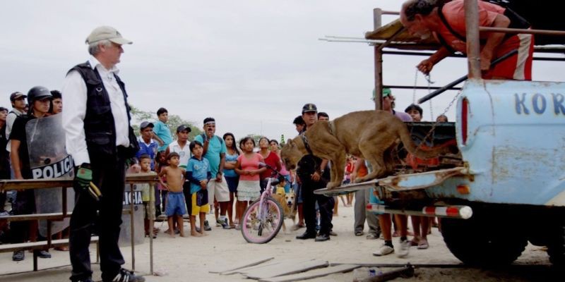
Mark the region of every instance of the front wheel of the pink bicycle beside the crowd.
POLYGON ((242 235, 249 243, 264 244, 273 240, 283 226, 283 209, 280 204, 271 197, 263 200, 260 209, 260 201, 256 200, 245 209, 242 216, 242 235), (261 214, 261 216, 258 216, 261 214))

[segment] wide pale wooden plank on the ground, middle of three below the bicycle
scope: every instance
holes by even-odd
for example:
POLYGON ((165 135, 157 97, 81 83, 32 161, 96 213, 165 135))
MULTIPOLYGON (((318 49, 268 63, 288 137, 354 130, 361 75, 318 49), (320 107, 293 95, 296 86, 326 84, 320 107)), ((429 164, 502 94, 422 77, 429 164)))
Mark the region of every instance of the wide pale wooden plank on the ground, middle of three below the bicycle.
POLYGON ((259 280, 288 274, 297 274, 303 271, 309 271, 310 269, 326 267, 328 265, 328 262, 325 260, 315 259, 307 262, 290 262, 285 266, 283 266, 283 264, 280 264, 279 266, 256 269, 255 271, 250 271, 249 273, 244 273, 243 275, 247 278, 259 280))

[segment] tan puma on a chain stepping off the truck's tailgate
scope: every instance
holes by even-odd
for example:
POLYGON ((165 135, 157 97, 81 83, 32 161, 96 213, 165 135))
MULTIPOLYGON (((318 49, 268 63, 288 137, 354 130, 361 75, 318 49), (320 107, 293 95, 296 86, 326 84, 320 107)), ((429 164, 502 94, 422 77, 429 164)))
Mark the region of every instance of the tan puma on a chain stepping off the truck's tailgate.
POLYGON ((381 178, 393 171, 391 149, 397 140, 408 152, 420 159, 438 157, 449 152, 448 147, 422 150, 417 148, 408 128, 388 111, 354 111, 333 121, 317 121, 304 133, 281 149, 280 156, 287 169, 295 169, 305 154, 331 161, 331 180, 328 189, 336 188, 343 182, 345 154, 361 157, 371 164, 373 171, 355 182, 381 178), (311 152, 309 152, 309 150, 311 152))

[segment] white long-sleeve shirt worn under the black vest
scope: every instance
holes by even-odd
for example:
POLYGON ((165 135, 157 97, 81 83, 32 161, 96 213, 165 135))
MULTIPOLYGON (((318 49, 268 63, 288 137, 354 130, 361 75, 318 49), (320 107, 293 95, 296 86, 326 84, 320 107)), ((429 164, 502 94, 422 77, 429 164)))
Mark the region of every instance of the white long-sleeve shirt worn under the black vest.
MULTIPOLYGON (((118 85, 114 73, 119 72, 116 66, 107 70, 93 56, 88 59, 90 66, 100 73, 104 88, 108 92, 110 108, 114 116, 116 128, 116 146, 129 146, 129 123, 124 101, 124 94, 118 85)), ((75 165, 83 163, 90 164, 90 157, 86 149, 86 139, 84 133, 84 118, 86 115, 86 83, 78 71, 71 71, 63 83, 61 90, 65 106, 63 107, 63 128, 66 133, 66 151, 71 154, 75 165)))

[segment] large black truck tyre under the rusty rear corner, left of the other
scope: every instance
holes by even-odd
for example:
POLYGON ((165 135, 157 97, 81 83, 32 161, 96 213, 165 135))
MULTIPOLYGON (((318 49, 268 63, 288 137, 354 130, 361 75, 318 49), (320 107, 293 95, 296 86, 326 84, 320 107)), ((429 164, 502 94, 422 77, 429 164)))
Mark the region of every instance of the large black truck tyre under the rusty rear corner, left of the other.
POLYGON ((471 219, 441 219, 444 242, 461 262, 475 266, 511 264, 528 244, 520 235, 518 223, 492 216, 471 219))

